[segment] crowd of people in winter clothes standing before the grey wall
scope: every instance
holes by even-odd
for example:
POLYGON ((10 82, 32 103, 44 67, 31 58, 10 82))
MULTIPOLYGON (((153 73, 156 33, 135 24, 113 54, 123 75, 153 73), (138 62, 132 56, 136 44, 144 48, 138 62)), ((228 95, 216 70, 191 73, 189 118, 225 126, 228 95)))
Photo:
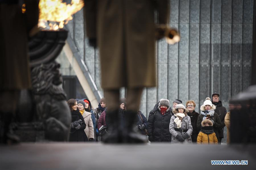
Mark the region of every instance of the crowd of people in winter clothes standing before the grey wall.
MULTIPOLYGON (((200 106, 200 113, 195 111, 194 100, 182 104, 176 99, 172 107, 168 99, 162 98, 149 112, 148 119, 138 110, 137 119, 132 125, 134 131, 148 136, 150 142, 220 144, 224 138, 223 128, 227 126, 229 139, 230 112, 222 106, 220 94, 213 93, 200 106)), ((110 121, 106 99, 101 98, 97 108, 92 109, 89 99, 70 99, 67 101, 72 120, 69 141, 105 141, 110 135, 110 121)), ((124 130, 124 121, 129 117, 126 98, 120 98, 118 120, 119 131, 124 130)), ((230 104, 230 110, 234 107, 230 104)))

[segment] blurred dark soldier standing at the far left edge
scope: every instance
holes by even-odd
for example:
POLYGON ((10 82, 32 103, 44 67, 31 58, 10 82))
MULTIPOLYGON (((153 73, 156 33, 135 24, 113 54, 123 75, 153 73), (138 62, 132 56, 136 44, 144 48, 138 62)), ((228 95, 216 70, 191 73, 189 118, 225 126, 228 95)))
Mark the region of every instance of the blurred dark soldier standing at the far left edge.
POLYGON ((0 0, 1 143, 18 140, 8 134, 8 127, 12 119, 17 119, 15 112, 21 89, 31 88, 28 37, 37 30, 38 3, 39 0, 0 0))

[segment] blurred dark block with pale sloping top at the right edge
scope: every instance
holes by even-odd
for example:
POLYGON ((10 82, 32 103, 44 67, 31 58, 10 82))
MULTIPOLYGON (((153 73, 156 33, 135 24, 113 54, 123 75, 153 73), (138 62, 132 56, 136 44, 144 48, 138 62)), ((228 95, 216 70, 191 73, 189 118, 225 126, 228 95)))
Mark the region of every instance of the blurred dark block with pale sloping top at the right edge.
POLYGON ((256 85, 236 95, 231 101, 230 143, 256 143, 256 85))

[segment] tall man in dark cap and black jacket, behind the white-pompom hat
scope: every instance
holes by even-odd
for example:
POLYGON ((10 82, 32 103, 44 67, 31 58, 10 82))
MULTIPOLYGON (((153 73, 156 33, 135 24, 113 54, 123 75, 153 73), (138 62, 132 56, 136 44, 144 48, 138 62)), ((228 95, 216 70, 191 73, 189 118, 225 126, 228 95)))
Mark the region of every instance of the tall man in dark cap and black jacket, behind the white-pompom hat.
POLYGON ((224 106, 222 106, 222 102, 220 101, 220 94, 218 93, 212 94, 212 104, 216 106, 215 112, 218 114, 221 121, 221 130, 218 132, 219 133, 218 142, 221 143, 222 138, 224 138, 223 128, 225 127, 224 119, 227 114, 227 109, 224 106))

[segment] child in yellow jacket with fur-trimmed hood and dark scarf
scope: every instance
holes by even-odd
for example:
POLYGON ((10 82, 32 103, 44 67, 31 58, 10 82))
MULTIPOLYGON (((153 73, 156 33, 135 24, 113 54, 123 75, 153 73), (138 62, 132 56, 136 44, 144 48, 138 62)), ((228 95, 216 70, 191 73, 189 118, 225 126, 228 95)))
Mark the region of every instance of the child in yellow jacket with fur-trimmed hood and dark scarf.
POLYGON ((201 123, 201 131, 197 136, 197 144, 218 144, 218 139, 213 131, 213 123, 209 119, 204 119, 201 123))

